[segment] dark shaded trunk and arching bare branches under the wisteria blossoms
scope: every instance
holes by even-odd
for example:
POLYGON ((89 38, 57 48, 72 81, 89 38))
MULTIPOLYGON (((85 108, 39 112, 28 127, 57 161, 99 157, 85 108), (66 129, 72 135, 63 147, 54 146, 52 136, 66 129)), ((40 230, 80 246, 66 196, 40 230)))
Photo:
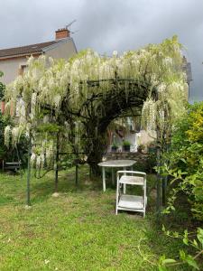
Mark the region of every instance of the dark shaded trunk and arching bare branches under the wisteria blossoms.
MULTIPOLYGON (((126 110, 134 108, 142 114, 143 103, 151 95, 154 100, 157 98, 157 89, 152 87, 150 82, 137 79, 119 79, 115 73, 115 79, 88 80, 88 89, 97 89, 104 80, 108 83, 108 91, 105 95, 102 91, 91 91, 85 102, 78 111, 72 111, 65 99, 62 103, 63 112, 69 117, 76 116, 84 125, 83 135, 86 138, 83 147, 88 155, 87 163, 93 173, 97 173, 97 164, 101 161, 106 149, 107 126, 117 117, 120 117, 126 110)), ((83 82, 80 82, 80 86, 83 82)))

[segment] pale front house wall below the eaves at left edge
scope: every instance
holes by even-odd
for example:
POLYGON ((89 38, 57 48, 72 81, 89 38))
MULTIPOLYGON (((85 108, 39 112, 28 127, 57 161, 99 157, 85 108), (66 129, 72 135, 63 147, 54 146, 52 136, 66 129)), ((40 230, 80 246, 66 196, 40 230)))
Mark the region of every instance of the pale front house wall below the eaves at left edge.
POLYGON ((0 78, 1 82, 4 84, 12 82, 19 75, 19 68, 26 61, 26 57, 0 61, 0 70, 4 72, 4 76, 0 78))

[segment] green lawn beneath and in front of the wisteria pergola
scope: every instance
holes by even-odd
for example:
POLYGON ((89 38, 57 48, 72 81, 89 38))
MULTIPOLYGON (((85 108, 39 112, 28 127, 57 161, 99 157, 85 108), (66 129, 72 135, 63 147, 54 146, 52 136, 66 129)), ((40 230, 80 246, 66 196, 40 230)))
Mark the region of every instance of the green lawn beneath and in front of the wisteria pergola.
POLYGON ((85 166, 78 188, 73 170, 60 172, 57 198, 53 187, 53 173, 32 177, 32 208, 26 209, 26 176, 0 174, 1 271, 157 270, 151 262, 174 257, 181 246, 154 222, 152 197, 145 219, 115 216, 115 188, 102 192, 101 180, 89 180, 85 166))

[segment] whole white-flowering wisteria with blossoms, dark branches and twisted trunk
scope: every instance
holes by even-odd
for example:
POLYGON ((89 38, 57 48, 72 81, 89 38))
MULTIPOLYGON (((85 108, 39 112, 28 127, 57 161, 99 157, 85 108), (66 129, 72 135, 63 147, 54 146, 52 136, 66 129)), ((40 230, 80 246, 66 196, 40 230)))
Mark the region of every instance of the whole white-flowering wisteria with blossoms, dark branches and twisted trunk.
POLYGON ((187 92, 177 37, 122 56, 114 51, 110 58, 92 50, 67 62, 31 58, 27 72, 6 89, 6 107, 9 112, 17 107, 19 122, 5 129, 5 142, 9 144, 12 134, 15 145, 25 133, 38 168, 59 157, 66 142, 78 154, 78 163, 84 163, 79 153, 86 154, 85 163, 97 173, 107 126, 116 117, 129 110, 142 115, 143 127, 156 130, 161 145, 185 112, 187 92), (36 148, 39 142, 42 146, 36 148))

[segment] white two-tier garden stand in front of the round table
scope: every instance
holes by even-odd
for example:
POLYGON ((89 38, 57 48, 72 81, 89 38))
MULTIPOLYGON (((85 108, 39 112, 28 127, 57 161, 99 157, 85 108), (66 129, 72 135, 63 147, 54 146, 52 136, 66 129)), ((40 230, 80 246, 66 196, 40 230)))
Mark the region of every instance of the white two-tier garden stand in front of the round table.
POLYGON ((146 173, 134 171, 118 171, 115 214, 117 215, 118 210, 133 210, 143 212, 144 217, 146 204, 146 173), (126 184, 143 186, 143 196, 135 196, 122 193, 122 185, 125 186, 126 184))

